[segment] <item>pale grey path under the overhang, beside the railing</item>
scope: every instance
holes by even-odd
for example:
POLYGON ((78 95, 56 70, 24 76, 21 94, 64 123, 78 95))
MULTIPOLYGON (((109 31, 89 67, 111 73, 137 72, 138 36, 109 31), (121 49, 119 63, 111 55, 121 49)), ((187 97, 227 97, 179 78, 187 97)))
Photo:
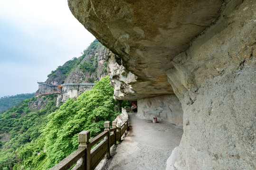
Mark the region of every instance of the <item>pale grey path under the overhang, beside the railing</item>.
POLYGON ((101 170, 165 170, 171 151, 180 144, 183 130, 171 123, 137 118, 129 114, 130 130, 111 148, 112 158, 101 170))

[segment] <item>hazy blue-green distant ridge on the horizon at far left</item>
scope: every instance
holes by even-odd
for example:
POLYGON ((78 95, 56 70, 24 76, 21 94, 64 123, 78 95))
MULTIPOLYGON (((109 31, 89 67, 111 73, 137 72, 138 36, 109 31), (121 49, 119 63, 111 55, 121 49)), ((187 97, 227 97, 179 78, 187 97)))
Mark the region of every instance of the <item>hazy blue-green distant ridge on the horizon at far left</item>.
POLYGON ((12 96, 4 96, 0 98, 0 112, 6 110, 19 102, 24 101, 25 99, 29 99, 35 96, 35 93, 26 93, 26 94, 17 94, 12 96))

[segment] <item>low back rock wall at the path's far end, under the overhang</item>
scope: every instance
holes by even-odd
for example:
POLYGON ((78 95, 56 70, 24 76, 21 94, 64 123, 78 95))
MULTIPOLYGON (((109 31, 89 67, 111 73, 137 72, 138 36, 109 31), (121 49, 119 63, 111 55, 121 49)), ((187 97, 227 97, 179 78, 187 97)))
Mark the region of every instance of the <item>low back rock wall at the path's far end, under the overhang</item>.
POLYGON ((182 126, 183 111, 179 99, 174 94, 138 99, 137 104, 138 117, 144 119, 157 117, 158 120, 166 120, 182 126))

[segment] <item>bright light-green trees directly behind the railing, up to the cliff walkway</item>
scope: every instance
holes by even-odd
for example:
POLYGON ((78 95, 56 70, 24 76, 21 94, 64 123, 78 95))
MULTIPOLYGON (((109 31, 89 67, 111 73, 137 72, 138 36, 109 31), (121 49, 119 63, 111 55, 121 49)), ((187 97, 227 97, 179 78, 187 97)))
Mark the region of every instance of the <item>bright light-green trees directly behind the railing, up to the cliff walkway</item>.
POLYGON ((21 166, 25 170, 48 170, 77 149, 79 132, 90 130, 91 137, 102 132, 104 122, 114 120, 119 114, 113 93, 114 88, 107 76, 77 100, 68 99, 48 115, 43 133, 19 150, 20 162, 14 170, 21 170, 21 166))

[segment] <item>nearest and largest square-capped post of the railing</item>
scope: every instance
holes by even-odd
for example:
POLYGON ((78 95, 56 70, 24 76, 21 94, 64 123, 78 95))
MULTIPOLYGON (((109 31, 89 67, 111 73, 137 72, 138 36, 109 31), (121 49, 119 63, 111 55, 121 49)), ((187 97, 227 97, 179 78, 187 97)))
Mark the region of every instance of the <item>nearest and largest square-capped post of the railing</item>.
POLYGON ((84 130, 78 134, 78 148, 86 148, 86 156, 83 158, 83 166, 85 167, 85 170, 91 169, 91 143, 89 142, 90 136, 91 133, 89 130, 84 130))

